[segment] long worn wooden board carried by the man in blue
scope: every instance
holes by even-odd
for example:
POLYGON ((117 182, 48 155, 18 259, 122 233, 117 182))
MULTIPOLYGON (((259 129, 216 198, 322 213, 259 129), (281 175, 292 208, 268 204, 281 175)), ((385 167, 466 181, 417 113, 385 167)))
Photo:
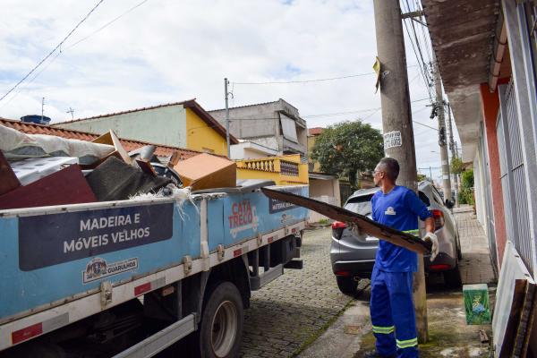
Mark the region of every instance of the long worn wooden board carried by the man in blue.
POLYGON ((296 195, 291 192, 282 192, 268 188, 261 188, 261 191, 267 195, 268 198, 290 202, 303 208, 317 211, 325 217, 330 217, 337 221, 353 223, 354 225, 358 226, 362 232, 378 237, 379 239, 385 240, 388 243, 393 243, 397 246, 404 247, 405 249, 417 253, 430 253, 430 243, 424 242, 420 238, 411 234, 406 234, 389 226, 379 224, 371 220, 369 217, 364 217, 363 215, 356 214, 353 211, 339 208, 335 205, 327 204, 326 202, 319 200, 296 195))

